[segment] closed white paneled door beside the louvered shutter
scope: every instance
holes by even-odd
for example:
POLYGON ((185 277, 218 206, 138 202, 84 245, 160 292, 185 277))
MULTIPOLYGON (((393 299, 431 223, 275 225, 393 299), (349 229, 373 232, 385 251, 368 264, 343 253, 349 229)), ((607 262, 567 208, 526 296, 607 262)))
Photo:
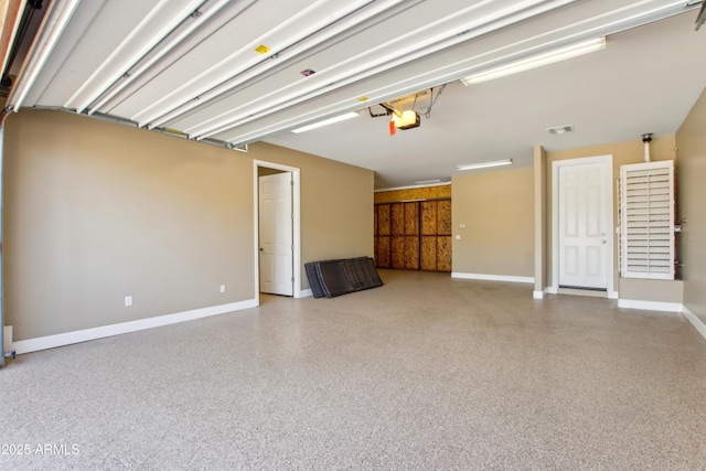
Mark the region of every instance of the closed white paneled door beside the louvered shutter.
POLYGON ((606 162, 559 168, 559 287, 608 288, 608 172, 606 162))

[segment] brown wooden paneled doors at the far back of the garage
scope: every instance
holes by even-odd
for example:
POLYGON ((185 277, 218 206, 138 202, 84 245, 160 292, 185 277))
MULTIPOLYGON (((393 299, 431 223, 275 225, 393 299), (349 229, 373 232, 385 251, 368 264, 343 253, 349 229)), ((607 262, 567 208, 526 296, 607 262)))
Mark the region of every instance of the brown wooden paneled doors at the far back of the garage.
POLYGON ((375 205, 378 268, 451 271, 451 200, 375 205))

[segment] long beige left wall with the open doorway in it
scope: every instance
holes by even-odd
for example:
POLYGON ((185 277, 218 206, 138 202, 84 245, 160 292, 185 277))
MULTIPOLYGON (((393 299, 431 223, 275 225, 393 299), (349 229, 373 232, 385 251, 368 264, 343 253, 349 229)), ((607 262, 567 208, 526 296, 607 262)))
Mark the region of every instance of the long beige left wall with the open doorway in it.
POLYGON ((301 168, 302 263, 372 255, 371 171, 62 111, 11 116, 3 275, 14 340, 253 299, 254 159, 301 168))

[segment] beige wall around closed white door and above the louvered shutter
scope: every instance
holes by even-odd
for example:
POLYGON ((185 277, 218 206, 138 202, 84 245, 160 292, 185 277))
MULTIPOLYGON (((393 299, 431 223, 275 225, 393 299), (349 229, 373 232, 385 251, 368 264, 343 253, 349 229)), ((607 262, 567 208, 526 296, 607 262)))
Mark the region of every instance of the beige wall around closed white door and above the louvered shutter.
MULTIPOLYGON (((665 136, 665 137, 656 137, 651 143, 651 159, 656 160, 673 160, 675 154, 675 139, 674 136, 665 136)), ((613 236, 613 291, 620 291, 620 282, 630 283, 631 280, 625 279, 621 280, 618 276, 618 244, 620 242, 619 235, 616 234, 616 227, 619 225, 618 222, 618 197, 617 197, 617 188, 618 188, 618 178, 620 176, 620 165, 624 165, 628 163, 640 163, 644 161, 644 146, 640 136, 635 137, 634 141, 629 142, 617 142, 617 143, 608 143, 602 146, 592 146, 592 147, 584 147, 577 149, 568 149, 560 151, 547 151, 547 201, 546 201, 546 211, 547 211, 547 239, 548 239, 548 251, 547 251, 547 278, 548 285, 553 285, 553 274, 552 274, 552 264, 553 264, 553 250, 554 240, 553 240, 553 213, 552 213, 552 201, 553 201, 553 179, 552 179, 552 162, 559 160, 568 160, 568 159, 579 159, 586 157, 598 157, 598 156, 609 156, 613 157, 613 227, 610 231, 610 234, 613 236)), ((631 289, 631 292, 635 291, 635 289, 631 289)), ((672 288, 666 288, 665 293, 673 292, 672 288)), ((622 296, 621 296, 622 297, 622 296)), ((672 299, 671 297, 665 297, 661 299, 665 302, 677 302, 678 300, 672 299)))

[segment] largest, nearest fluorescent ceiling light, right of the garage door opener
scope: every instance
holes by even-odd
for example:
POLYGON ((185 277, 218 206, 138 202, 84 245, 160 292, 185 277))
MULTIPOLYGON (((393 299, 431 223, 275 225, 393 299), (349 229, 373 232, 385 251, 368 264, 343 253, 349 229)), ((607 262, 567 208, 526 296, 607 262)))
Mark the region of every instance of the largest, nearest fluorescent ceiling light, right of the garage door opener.
POLYGON ((567 58, 577 57, 579 55, 588 54, 591 52, 602 51, 605 49, 606 36, 596 38, 592 40, 573 44, 570 46, 549 51, 544 54, 501 65, 500 67, 493 67, 488 71, 479 72, 478 74, 469 75, 468 77, 461 78, 461 82, 466 86, 480 84, 481 82, 488 82, 494 78, 504 77, 506 75, 531 71, 544 65, 554 64, 556 62, 566 61, 567 58))

